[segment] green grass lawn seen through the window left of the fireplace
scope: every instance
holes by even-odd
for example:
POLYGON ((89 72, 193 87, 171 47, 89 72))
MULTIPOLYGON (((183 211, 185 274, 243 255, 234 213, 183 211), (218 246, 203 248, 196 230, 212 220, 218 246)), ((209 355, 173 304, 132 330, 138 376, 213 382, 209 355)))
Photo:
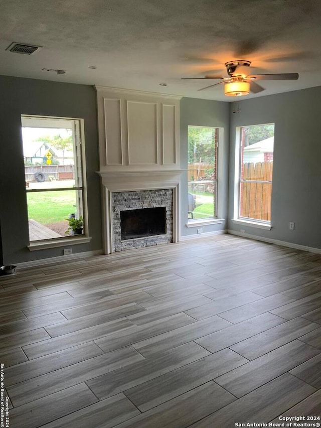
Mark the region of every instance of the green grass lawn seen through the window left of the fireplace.
MULTIPOLYGON (((76 192, 37 192, 27 193, 28 217, 41 224, 64 221, 76 210, 76 192)), ((66 223, 67 224, 67 223, 66 223)))

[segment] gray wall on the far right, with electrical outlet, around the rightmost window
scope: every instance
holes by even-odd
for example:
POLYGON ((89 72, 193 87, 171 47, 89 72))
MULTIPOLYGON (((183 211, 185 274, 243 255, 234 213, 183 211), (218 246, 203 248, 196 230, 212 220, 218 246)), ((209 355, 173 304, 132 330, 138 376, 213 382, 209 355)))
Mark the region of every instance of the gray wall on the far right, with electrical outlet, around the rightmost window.
MULTIPOLYGON (((233 105, 231 106, 231 111, 233 105)), ((321 87, 239 102, 231 112, 228 228, 321 248, 321 87), (235 128, 275 123, 270 231, 233 224, 235 128), (289 230, 289 222, 295 230, 289 230)))

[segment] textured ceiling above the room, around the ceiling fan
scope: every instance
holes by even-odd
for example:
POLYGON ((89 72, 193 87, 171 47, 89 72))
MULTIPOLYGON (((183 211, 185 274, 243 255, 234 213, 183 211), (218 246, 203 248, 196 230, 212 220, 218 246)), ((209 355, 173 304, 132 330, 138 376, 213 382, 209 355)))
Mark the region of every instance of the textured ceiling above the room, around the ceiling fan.
POLYGON ((299 79, 243 99, 321 86, 320 0, 2 0, 0 12, 3 75, 234 101, 223 85, 198 91, 217 81, 181 77, 226 77, 225 62, 245 59, 299 79), (43 48, 19 55, 12 42, 43 48))

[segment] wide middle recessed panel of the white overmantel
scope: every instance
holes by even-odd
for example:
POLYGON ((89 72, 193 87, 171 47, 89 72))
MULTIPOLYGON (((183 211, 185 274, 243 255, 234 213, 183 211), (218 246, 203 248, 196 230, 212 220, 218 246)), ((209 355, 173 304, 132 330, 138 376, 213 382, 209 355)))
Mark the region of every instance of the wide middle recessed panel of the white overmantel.
POLYGON ((157 164, 157 104, 127 101, 127 125, 129 165, 157 164))

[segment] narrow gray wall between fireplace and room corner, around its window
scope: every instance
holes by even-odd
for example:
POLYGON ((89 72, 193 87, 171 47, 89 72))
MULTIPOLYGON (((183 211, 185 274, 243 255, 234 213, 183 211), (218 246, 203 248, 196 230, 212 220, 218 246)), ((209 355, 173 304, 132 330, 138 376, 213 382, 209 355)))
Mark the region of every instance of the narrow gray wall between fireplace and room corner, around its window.
MULTIPOLYGON (((195 98, 182 98, 180 104, 180 128, 181 128, 181 235, 194 235, 197 227, 187 228, 188 216, 188 186, 187 186, 187 152, 188 152, 188 126, 214 126, 224 128, 224 140, 220 141, 219 156, 222 163, 219 166, 218 192, 222 201, 218 206, 219 216, 227 219, 228 200, 228 154, 229 154, 229 114, 230 103, 222 101, 210 101, 195 98)), ((227 223, 198 226, 203 228, 203 233, 226 229, 227 223)))

